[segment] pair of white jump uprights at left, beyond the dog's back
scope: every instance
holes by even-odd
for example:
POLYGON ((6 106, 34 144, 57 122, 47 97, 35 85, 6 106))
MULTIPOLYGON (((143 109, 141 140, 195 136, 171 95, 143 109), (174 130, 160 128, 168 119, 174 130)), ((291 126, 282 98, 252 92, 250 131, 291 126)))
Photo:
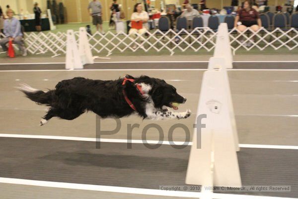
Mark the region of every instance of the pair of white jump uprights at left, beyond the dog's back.
POLYGON ((74 30, 67 31, 66 45, 66 69, 83 69, 85 64, 93 64, 91 48, 88 42, 87 32, 84 27, 79 28, 78 48, 74 30))

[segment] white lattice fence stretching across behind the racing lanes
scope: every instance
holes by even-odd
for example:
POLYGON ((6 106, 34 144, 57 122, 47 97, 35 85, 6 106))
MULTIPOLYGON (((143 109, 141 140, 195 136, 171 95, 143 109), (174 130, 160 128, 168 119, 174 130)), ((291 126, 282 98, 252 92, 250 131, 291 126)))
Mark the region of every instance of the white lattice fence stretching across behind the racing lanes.
MULTIPOLYGON (((0 33, 2 37, 4 35, 0 33)), ((215 48, 217 33, 210 28, 196 28, 188 31, 182 29, 174 31, 172 29, 167 32, 154 30, 147 31, 146 34, 129 35, 124 32, 113 33, 111 31, 106 34, 96 32, 93 35, 88 34, 90 48, 95 53, 106 53, 107 55, 113 52, 169 52, 171 55, 174 52, 199 52, 202 50, 212 51, 215 48)), ((233 53, 240 49, 247 51, 257 48, 262 51, 266 48, 279 50, 285 47, 289 50, 298 48, 298 30, 280 29, 267 30, 261 28, 257 32, 252 32, 247 28, 244 32, 240 32, 233 28, 229 32, 230 45, 233 53)), ((75 32, 75 38, 78 44, 78 32, 75 32)), ((54 56, 66 53, 67 35, 64 32, 57 33, 36 33, 30 32, 24 34, 24 41, 27 50, 31 54, 40 54, 50 52, 54 56)))

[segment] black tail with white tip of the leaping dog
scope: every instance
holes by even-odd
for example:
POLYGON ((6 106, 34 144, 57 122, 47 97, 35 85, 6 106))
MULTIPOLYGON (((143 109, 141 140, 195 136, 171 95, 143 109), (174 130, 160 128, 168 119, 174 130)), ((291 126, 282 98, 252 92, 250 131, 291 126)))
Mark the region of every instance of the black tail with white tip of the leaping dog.
POLYGON ((29 98, 32 101, 35 101, 37 104, 51 104, 53 91, 40 91, 30 87, 27 84, 20 84, 20 87, 17 87, 17 89, 23 92, 27 98, 29 98))

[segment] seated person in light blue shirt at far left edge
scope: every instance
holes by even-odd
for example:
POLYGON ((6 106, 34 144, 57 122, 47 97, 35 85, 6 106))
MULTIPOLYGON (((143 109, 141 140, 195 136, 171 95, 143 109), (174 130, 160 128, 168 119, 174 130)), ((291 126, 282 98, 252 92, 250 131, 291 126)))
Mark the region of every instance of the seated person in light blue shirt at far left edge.
POLYGON ((23 56, 27 55, 27 51, 24 45, 24 42, 22 40, 22 32, 21 32, 21 23, 13 16, 12 9, 6 10, 6 15, 8 18, 4 21, 4 35, 5 37, 0 40, 0 45, 3 49, 3 51, 7 52, 7 46, 6 44, 9 41, 13 41, 13 43, 17 44, 19 49, 22 52, 23 56))

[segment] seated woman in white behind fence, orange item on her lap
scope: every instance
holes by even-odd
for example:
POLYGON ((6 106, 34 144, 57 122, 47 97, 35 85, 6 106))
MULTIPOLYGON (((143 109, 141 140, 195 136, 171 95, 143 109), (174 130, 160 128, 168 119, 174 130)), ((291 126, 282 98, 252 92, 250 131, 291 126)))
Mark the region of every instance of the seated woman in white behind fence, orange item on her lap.
MULTIPOLYGON (((136 3, 134 7, 134 12, 132 13, 132 16, 131 16, 131 21, 136 21, 136 22, 142 21, 143 26, 141 29, 136 29, 132 27, 129 30, 129 35, 135 39, 137 37, 135 33, 139 33, 141 35, 145 34, 146 31, 148 30, 148 20, 149 20, 148 12, 143 10, 143 5, 141 3, 136 3)), ((144 38, 142 40, 144 40, 144 38)), ((134 45, 133 48, 137 48, 137 46, 134 45)))

